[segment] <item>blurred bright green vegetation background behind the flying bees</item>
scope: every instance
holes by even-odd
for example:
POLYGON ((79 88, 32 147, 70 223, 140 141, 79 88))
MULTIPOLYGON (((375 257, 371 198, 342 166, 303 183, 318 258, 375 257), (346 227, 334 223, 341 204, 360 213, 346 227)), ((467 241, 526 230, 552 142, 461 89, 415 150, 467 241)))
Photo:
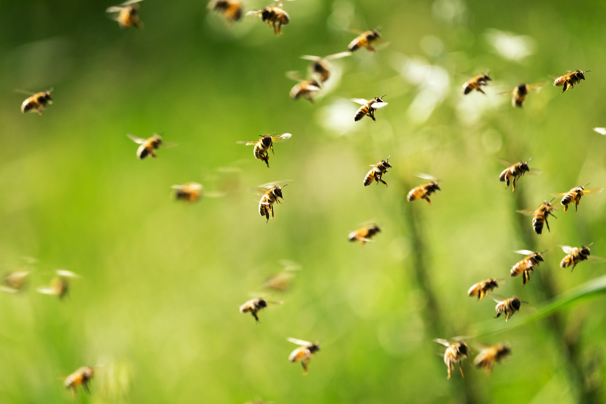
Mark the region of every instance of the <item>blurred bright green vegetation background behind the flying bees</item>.
POLYGON ((570 273, 557 245, 594 242, 606 256, 606 199, 560 210, 540 239, 515 213, 606 184, 606 138, 591 131, 606 126, 604 2, 297 0, 277 38, 258 18, 230 27, 203 1, 144 1, 145 29, 123 31, 110 5, 0 2, 0 270, 32 271, 27 290, 0 295, 0 401, 604 400, 605 299, 587 283, 604 264, 570 273), (288 98, 299 56, 344 51, 346 28, 377 25, 388 47, 335 61, 316 105, 288 98), (593 71, 564 94, 548 83, 521 110, 498 94, 577 68, 593 71), (488 95, 464 98, 463 82, 487 70, 488 95), (42 116, 21 114, 15 89, 50 87, 42 116), (381 94, 378 123, 353 122, 347 100, 381 94), (293 137, 269 169, 236 144, 274 131, 293 137), (178 147, 137 161, 125 134, 153 132, 178 147), (390 154, 389 187, 362 187, 390 154), (496 157, 533 157, 542 174, 511 193, 496 157), (431 206, 405 201, 417 172, 443 180, 431 206), (293 181, 265 224, 247 189, 281 179, 293 181), (227 195, 171 200, 188 181, 227 195), (376 242, 348 243, 367 220, 382 226, 376 242), (523 248, 549 250, 524 288, 507 276, 523 248), (282 259, 302 270, 256 325, 238 306, 266 293, 282 259), (69 296, 36 293, 58 268, 81 275, 69 296), (490 296, 465 294, 488 277, 528 301, 507 324, 490 296), (490 376, 465 363, 465 379, 446 380, 431 340, 476 334, 471 345, 508 341, 512 356, 490 376), (308 376, 286 337, 323 341, 308 376), (57 380, 96 364, 90 396, 57 380))

